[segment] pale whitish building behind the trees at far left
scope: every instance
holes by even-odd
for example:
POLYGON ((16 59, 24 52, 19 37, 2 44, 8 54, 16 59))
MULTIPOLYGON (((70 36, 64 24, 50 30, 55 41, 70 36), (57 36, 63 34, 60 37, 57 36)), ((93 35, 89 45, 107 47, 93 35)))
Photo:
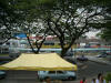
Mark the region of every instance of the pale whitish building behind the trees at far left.
POLYGON ((3 40, 0 40, 0 53, 10 53, 18 52, 17 48, 28 48, 29 43, 26 39, 11 39, 8 42, 3 43, 3 40))

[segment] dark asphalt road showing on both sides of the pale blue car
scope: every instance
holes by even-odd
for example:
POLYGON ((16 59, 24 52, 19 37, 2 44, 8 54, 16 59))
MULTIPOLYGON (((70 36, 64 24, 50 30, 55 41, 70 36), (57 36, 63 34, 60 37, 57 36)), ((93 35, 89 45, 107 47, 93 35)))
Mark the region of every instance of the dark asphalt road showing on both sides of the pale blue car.
MULTIPOLYGON (((78 62, 78 79, 82 77, 92 79, 102 72, 111 72, 111 66, 95 62, 78 62)), ((7 71, 7 77, 0 80, 0 83, 39 83, 36 71, 7 71)), ((73 81, 63 81, 63 83, 73 83, 73 81)), ((75 82, 74 82, 75 83, 75 82)))

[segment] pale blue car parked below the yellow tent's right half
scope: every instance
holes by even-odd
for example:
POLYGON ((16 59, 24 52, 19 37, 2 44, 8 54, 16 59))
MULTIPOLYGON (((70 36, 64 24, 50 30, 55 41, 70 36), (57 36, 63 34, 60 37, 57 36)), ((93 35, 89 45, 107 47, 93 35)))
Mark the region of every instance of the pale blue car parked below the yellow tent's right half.
POLYGON ((75 80, 77 75, 74 71, 39 71, 39 80, 46 80, 50 77, 51 80, 75 80))

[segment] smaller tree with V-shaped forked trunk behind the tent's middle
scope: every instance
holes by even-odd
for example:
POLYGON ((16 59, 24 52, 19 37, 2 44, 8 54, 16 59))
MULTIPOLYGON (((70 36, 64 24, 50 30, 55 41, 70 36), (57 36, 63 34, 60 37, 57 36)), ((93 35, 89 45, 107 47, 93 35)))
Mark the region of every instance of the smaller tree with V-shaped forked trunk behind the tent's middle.
POLYGON ((14 8, 18 14, 17 23, 19 27, 19 31, 27 34, 27 39, 30 48, 32 49, 32 52, 39 53, 39 50, 46 41, 46 37, 49 32, 49 29, 42 24, 43 21, 38 18, 40 14, 39 1, 17 0, 14 1, 14 8), (34 40, 36 46, 31 43, 31 40, 29 38, 30 34, 42 35, 41 40, 34 40))

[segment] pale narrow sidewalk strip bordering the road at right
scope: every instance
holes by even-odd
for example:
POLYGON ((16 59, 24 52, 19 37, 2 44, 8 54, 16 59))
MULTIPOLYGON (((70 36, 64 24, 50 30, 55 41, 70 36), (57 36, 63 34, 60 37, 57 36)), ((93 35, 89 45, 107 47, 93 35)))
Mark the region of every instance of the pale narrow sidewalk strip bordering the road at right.
POLYGON ((102 59, 102 58, 95 58, 95 56, 89 56, 89 55, 87 55, 87 58, 88 58, 90 61, 94 61, 94 62, 99 62, 99 63, 104 63, 104 64, 111 65, 111 62, 110 62, 110 61, 104 60, 104 59, 102 59))

